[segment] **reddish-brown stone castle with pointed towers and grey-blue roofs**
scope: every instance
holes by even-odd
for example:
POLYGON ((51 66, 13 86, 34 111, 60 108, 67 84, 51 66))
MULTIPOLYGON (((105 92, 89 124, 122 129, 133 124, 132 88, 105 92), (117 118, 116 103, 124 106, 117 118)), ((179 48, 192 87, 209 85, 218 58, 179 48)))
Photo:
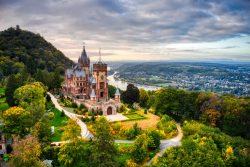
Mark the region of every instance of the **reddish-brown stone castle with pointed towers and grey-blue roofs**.
MULTIPOLYGON (((100 53, 99 53, 100 54, 100 53)), ((114 115, 120 108, 120 93, 117 88, 115 99, 108 100, 107 64, 99 61, 90 64, 85 46, 75 67, 65 70, 64 93, 77 105, 83 103, 89 112, 114 115)))

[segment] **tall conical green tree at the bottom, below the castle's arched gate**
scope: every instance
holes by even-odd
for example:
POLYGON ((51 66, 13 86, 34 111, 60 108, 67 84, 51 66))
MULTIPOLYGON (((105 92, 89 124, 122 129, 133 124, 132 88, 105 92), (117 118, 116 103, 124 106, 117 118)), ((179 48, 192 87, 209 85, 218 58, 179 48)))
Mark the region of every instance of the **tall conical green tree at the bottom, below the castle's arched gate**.
POLYGON ((101 116, 95 125, 96 140, 92 146, 92 153, 89 157, 91 166, 112 167, 117 166, 115 157, 117 148, 114 145, 114 138, 111 134, 110 123, 106 117, 101 116))

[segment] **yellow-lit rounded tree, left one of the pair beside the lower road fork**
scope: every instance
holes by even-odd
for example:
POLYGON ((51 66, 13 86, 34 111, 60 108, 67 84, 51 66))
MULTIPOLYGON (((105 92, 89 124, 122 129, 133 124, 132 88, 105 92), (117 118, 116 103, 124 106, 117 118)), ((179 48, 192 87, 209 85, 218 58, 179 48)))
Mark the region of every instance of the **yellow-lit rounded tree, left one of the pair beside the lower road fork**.
POLYGON ((138 136, 131 149, 131 156, 135 160, 136 163, 141 163, 143 160, 148 158, 148 137, 144 133, 138 136))

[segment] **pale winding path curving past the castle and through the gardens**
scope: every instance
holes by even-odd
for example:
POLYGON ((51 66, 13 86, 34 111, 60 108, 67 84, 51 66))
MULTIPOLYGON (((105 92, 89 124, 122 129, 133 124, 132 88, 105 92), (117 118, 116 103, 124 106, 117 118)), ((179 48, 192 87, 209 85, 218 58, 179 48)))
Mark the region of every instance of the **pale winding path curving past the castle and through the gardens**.
MULTIPOLYGON (((83 123, 78 117, 77 114, 68 112, 67 110, 63 109, 59 103, 57 102, 57 99, 51 94, 48 93, 51 97, 52 102, 55 104, 55 107, 62 111, 64 110, 65 114, 70 117, 71 119, 75 119, 77 121, 77 123, 79 124, 79 126, 81 127, 81 135, 83 138, 85 139, 89 139, 90 137, 94 137, 93 134, 88 130, 87 126, 85 123, 83 123)), ((178 129, 178 135, 170 140, 161 140, 161 144, 160 144, 160 151, 159 153, 157 153, 149 162, 148 164, 151 164, 151 162, 153 161, 154 158, 158 158, 159 156, 162 156, 163 152, 170 147, 174 147, 174 146, 178 146, 181 145, 181 138, 182 138, 182 131, 181 131, 181 127, 180 127, 180 123, 176 124, 177 129, 178 129)), ((133 143, 134 141, 131 140, 115 140, 116 143, 133 143)), ((61 143, 61 142, 54 142, 55 144, 61 143)))

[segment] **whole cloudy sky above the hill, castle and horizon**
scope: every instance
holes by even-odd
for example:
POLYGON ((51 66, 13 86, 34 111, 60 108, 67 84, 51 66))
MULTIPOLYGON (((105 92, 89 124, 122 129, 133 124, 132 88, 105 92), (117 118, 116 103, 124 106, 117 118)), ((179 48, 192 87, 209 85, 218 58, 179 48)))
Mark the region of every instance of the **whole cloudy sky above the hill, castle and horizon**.
POLYGON ((0 0, 16 25, 74 61, 250 62, 250 0, 0 0))

